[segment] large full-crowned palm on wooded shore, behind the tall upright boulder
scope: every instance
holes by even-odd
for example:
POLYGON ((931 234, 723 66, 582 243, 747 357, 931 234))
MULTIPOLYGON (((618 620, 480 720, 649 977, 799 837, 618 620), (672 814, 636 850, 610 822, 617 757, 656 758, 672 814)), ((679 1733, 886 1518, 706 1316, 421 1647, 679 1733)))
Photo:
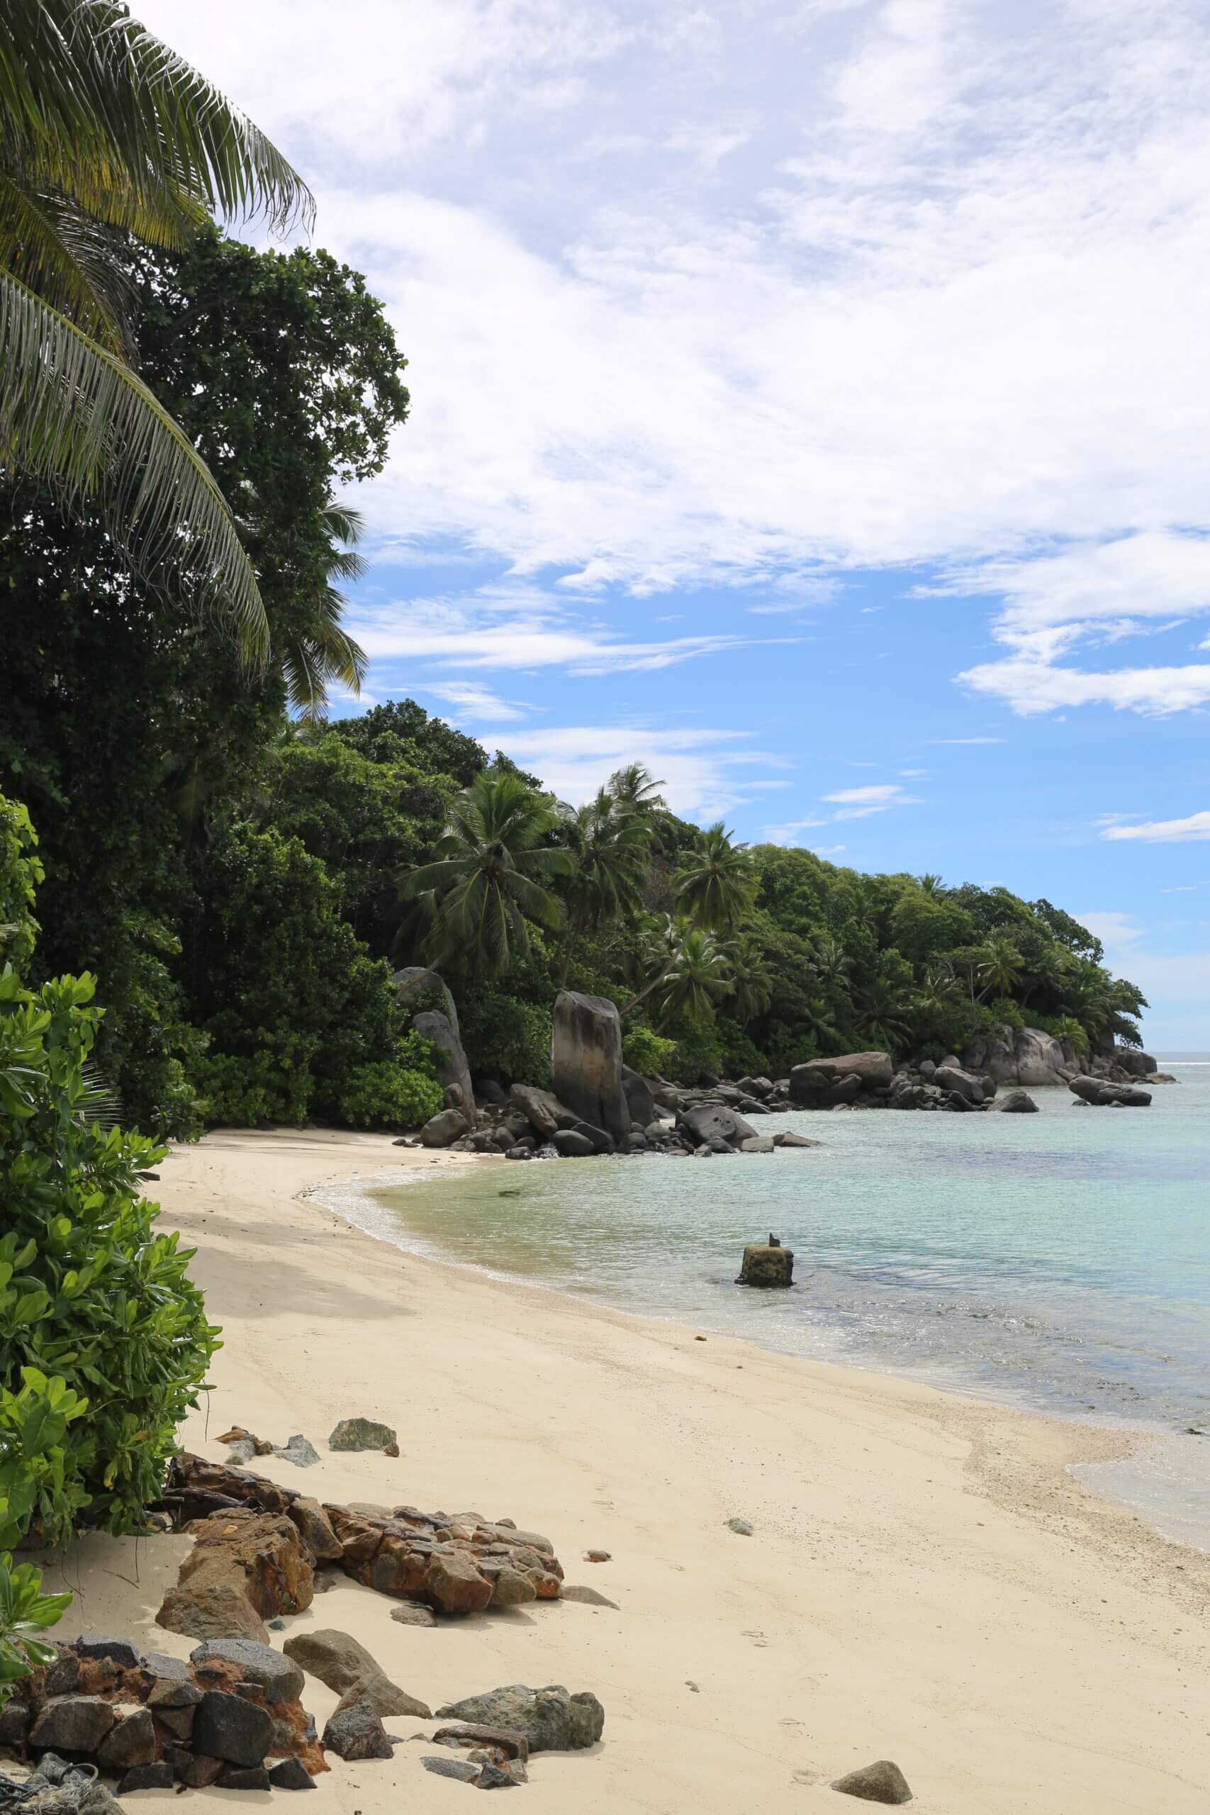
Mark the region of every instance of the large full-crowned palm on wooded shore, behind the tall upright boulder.
POLYGON ((544 884, 566 877, 571 853, 548 844, 559 813, 506 771, 475 775, 450 808, 434 862, 403 878, 405 902, 417 902, 430 922, 434 964, 501 976, 530 949, 530 920, 564 924, 564 906, 544 884))

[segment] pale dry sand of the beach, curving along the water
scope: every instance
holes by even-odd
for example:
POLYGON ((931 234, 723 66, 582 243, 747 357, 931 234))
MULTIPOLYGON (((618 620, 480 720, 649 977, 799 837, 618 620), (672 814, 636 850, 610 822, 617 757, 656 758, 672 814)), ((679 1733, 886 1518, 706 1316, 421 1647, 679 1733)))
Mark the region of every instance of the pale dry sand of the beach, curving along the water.
MULTIPOLYGON (((532 1815, 836 1815, 864 1804, 831 1779, 878 1757, 920 1815, 1210 1811, 1210 1557, 1065 1474, 1121 1439, 441 1267, 307 1196, 401 1163, 434 1162, 376 1136, 216 1134, 163 1163, 163 1220, 225 1329, 185 1443, 223 1457, 232 1423, 301 1430, 317 1468, 258 1467, 325 1499, 512 1517, 619 1612, 417 1630, 341 1583, 290 1630, 356 1634, 434 1708, 503 1683, 593 1690, 604 1742, 539 1755, 532 1815), (328 1454, 348 1414, 394 1425, 399 1459, 328 1454)), ((189 1543, 76 1545, 65 1635, 187 1655, 154 1610, 189 1543)), ((336 1697, 308 1679, 305 1701, 323 1724, 336 1697)), ((461 1808, 472 1791, 423 1771, 424 1750, 334 1761, 314 1808, 461 1808)))

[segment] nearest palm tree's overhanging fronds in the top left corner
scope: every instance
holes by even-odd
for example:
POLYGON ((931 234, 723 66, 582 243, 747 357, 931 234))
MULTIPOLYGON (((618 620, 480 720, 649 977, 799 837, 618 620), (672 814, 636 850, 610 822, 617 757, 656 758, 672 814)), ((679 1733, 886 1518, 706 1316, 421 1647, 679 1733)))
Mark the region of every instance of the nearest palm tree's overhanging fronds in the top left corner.
POLYGON ((210 214, 310 223, 270 142, 122 0, 0 9, 0 468, 102 510, 138 568, 232 624, 268 624, 232 515, 131 368, 122 236, 180 249, 210 214))

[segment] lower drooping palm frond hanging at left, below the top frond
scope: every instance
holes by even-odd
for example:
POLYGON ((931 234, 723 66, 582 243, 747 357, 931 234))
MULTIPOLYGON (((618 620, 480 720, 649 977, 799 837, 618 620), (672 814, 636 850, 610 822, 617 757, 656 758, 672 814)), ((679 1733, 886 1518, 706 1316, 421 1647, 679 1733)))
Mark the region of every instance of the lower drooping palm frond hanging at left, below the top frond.
POLYGON ((116 354, 2 270, 0 465, 94 503, 132 564, 172 574, 265 659, 256 575, 198 450, 116 354))

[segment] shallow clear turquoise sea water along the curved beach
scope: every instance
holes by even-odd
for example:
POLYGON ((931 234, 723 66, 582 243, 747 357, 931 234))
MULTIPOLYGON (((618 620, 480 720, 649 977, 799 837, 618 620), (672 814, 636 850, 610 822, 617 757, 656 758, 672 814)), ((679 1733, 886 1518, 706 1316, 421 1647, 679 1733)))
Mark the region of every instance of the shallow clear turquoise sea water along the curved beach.
POLYGON ((1036 1116, 769 1116, 762 1133, 824 1145, 484 1162, 341 1209, 401 1245, 702 1330, 1157 1425, 1172 1443, 1148 1514, 1210 1534, 1210 1055, 1163 1069, 1181 1082, 1150 1109, 1078 1109, 1058 1089, 1030 1093, 1036 1116), (769 1231, 796 1285, 742 1290, 740 1251, 769 1231))

